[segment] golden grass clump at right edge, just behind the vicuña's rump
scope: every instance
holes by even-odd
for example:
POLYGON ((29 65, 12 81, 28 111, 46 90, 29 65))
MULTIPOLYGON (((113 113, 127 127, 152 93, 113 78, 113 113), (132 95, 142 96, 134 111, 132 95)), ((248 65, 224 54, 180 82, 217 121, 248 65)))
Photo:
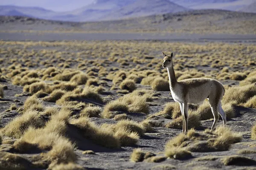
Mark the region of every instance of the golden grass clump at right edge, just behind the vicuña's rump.
POLYGON ((244 85, 244 86, 232 86, 225 91, 222 102, 234 102, 236 105, 241 105, 247 102, 251 97, 256 95, 256 86, 244 85))

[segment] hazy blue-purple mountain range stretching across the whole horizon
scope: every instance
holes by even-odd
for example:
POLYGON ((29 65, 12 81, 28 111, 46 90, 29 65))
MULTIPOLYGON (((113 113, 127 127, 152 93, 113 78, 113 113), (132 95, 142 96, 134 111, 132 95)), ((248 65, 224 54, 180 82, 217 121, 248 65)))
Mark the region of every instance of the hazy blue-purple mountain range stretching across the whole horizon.
POLYGON ((175 13, 191 9, 255 11, 256 0, 95 0, 73 11, 55 12, 38 7, 0 6, 0 15, 25 16, 45 20, 86 22, 119 20, 153 14, 175 13), (254 5, 255 6, 255 5, 254 5))

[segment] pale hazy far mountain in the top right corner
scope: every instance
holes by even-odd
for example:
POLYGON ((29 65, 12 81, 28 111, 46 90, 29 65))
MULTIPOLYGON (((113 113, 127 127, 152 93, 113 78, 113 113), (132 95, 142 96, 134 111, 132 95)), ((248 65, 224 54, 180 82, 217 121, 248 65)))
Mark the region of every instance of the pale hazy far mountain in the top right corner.
POLYGON ((224 9, 236 11, 256 0, 170 0, 178 5, 192 9, 224 9))

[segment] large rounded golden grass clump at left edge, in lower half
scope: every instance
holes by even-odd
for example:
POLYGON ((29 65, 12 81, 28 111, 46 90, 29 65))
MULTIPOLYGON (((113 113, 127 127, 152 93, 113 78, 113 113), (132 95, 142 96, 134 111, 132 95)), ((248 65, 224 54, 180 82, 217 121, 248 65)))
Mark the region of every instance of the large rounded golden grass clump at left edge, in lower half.
POLYGON ((40 118, 37 111, 26 111, 9 122, 1 131, 5 136, 20 138, 29 127, 39 128, 43 126, 44 120, 40 118))

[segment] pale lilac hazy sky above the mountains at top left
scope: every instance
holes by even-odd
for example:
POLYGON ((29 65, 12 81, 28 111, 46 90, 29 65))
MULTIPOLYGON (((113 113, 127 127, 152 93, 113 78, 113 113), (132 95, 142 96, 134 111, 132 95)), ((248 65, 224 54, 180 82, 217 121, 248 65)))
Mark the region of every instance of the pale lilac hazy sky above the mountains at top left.
POLYGON ((37 6, 53 11, 69 11, 92 2, 93 0, 0 0, 0 5, 37 6))

